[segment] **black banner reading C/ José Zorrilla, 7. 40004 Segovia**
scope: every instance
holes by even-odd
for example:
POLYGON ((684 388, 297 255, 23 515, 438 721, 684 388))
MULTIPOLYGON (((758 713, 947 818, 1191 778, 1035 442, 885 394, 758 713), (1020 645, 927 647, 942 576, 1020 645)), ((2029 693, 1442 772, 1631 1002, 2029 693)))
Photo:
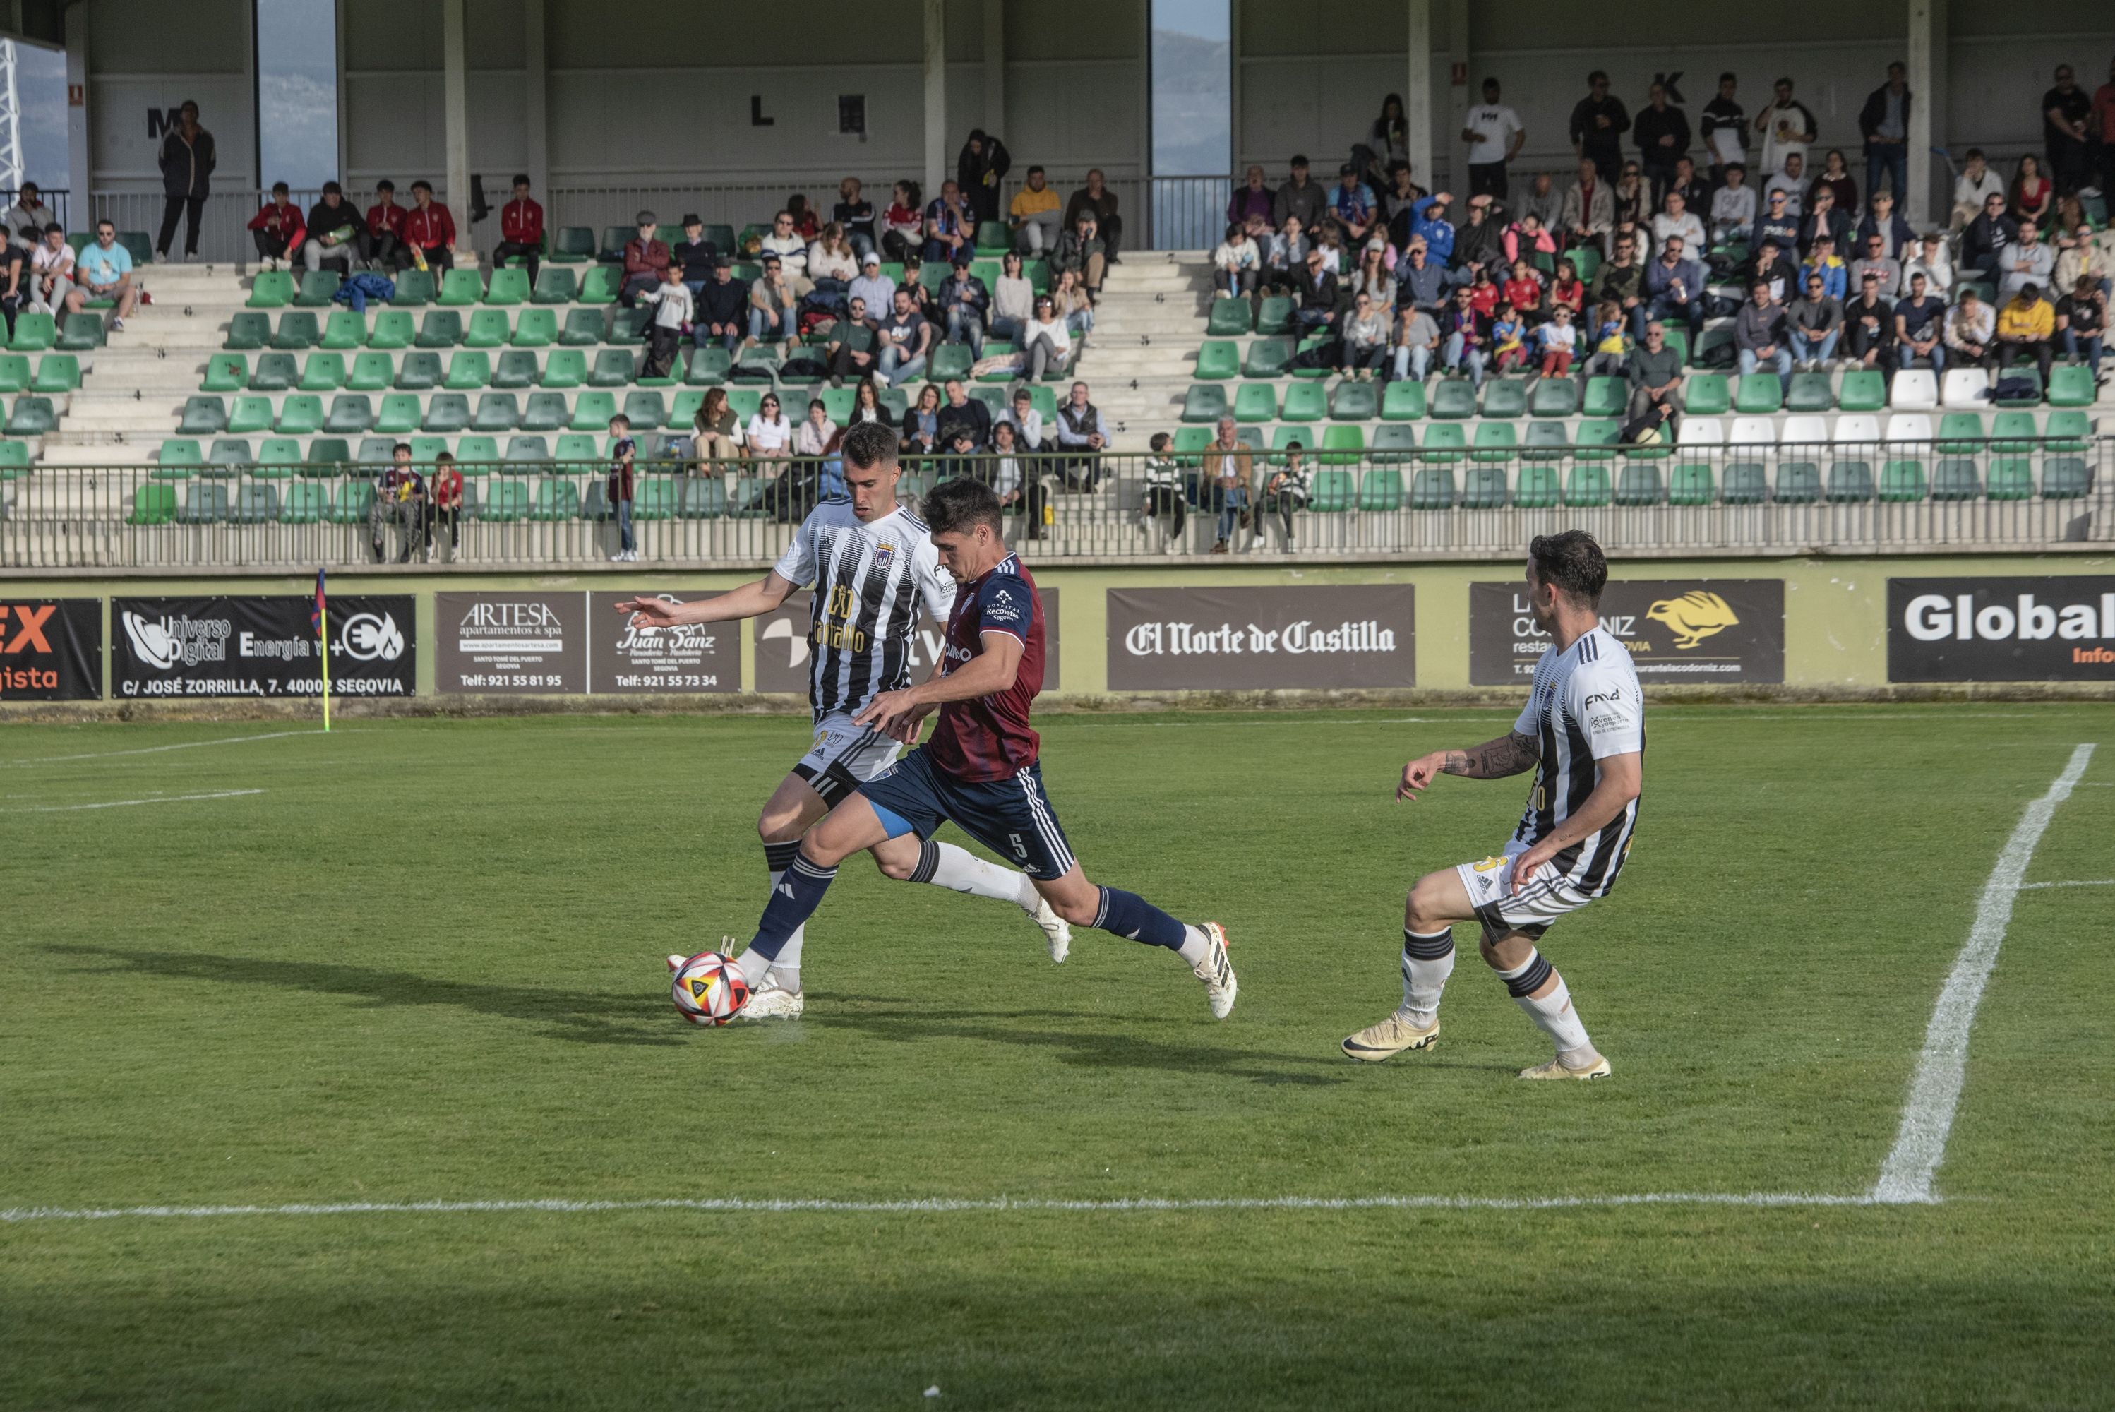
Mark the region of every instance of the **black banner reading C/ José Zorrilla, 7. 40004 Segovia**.
MULTIPOLYGON (((112 598, 110 693, 321 695, 307 594, 112 598)), ((419 685, 410 594, 332 594, 330 695, 410 695, 419 685)))

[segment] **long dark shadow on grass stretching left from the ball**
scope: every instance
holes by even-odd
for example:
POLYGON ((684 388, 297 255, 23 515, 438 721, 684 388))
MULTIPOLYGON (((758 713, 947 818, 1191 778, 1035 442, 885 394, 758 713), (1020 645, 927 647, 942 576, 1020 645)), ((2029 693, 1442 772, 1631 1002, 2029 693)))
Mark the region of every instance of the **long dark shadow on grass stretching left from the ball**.
POLYGON ((370 1006, 453 1006, 474 1015, 544 1025, 554 1040, 575 1044, 681 1044, 683 1036, 658 989, 641 996, 544 991, 510 985, 436 981, 408 970, 374 970, 341 962, 288 962, 205 951, 129 951, 49 943, 44 951, 123 964, 131 974, 216 985, 275 985, 321 996, 351 996, 370 1006))

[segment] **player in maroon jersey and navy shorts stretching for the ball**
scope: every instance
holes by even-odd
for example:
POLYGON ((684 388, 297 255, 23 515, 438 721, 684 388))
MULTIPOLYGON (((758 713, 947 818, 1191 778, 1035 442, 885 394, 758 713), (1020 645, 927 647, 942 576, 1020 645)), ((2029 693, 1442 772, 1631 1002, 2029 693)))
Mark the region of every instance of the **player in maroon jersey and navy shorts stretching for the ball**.
POLYGON ((931 850, 948 820, 992 852, 1015 860, 1036 892, 1077 926, 1167 947, 1203 981, 1214 1019, 1233 1012, 1235 979, 1227 934, 1216 922, 1187 926, 1134 892, 1087 881, 1058 812, 1043 793, 1041 738, 1028 708, 1043 689, 1043 602, 1028 569, 1000 537, 998 497, 979 480, 950 480, 924 501, 933 547, 960 583, 948 615, 945 657, 931 679, 882 691, 857 723, 905 744, 933 710, 933 740, 863 782, 802 839, 736 958, 755 981, 785 939, 823 903, 838 862, 886 839, 916 835, 931 850))

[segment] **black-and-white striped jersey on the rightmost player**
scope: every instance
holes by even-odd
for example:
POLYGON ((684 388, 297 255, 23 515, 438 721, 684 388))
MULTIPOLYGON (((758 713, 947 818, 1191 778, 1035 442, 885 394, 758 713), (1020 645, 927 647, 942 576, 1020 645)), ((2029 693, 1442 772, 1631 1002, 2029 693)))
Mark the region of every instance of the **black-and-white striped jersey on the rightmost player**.
MULTIPOLYGON (((1535 788, 1512 835, 1533 848, 1586 803, 1601 778, 1597 761, 1645 753, 1645 693, 1631 653, 1601 628, 1565 651, 1542 653, 1527 706, 1512 729, 1542 742, 1535 788)), ((1603 896, 1616 886, 1635 829, 1637 799, 1552 862, 1574 888, 1603 896)))

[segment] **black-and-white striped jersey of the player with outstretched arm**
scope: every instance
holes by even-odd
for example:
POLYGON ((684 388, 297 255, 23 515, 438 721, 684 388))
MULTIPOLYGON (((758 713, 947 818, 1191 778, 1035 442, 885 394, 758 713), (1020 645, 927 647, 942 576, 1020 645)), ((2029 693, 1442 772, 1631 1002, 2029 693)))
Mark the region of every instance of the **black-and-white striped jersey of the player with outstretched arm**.
POLYGON ((933 531, 901 505, 861 524, 852 501, 823 501, 802 520, 776 573, 814 588, 808 704, 816 721, 859 714, 882 691, 912 685, 920 602, 937 621, 954 611, 954 579, 939 564, 933 531))

